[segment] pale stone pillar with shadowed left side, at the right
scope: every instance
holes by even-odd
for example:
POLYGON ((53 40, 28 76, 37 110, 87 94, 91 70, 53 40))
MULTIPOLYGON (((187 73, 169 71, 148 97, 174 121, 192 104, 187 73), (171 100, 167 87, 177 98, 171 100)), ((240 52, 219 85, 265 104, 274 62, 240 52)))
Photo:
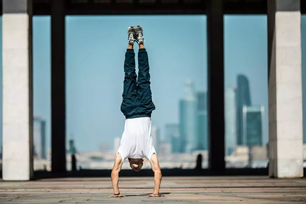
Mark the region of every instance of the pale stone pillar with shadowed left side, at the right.
POLYGON ((269 175, 303 176, 299 0, 269 0, 269 175))

